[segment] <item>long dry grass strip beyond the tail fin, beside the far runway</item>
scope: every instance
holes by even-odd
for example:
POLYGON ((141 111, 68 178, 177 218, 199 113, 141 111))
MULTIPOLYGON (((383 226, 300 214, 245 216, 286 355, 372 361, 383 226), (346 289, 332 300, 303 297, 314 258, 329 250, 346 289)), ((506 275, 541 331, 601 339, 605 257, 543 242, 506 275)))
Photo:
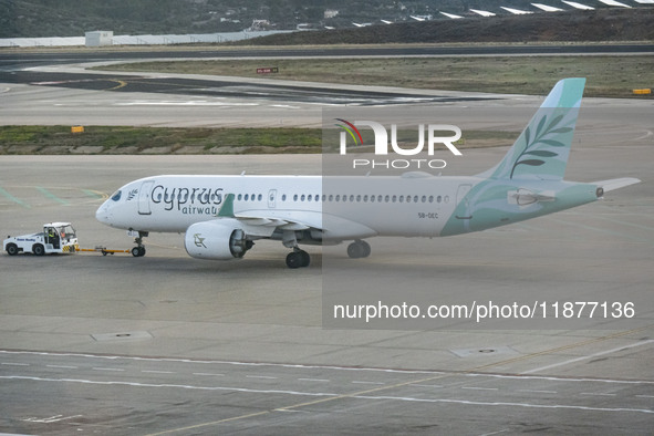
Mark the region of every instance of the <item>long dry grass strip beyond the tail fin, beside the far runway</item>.
MULTIPOLYGON (((586 77, 585 96, 632 97, 654 87, 654 56, 450 56, 139 62, 98 70, 271 77, 428 90, 547 94, 563 77, 586 77), (277 66, 279 73, 257 74, 277 66)), ((639 96, 643 98, 643 96, 639 96)))

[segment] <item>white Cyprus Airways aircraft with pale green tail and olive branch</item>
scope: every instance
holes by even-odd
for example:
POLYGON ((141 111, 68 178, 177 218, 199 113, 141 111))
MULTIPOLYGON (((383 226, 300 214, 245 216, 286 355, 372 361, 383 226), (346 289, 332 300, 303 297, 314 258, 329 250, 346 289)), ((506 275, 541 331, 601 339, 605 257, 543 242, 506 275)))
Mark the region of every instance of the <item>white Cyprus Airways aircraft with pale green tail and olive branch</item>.
POLYGON ((504 159, 476 176, 155 176, 123 186, 96 218, 138 232, 135 257, 150 231, 186 232, 194 258, 242 258, 273 239, 300 268, 310 262, 300 245, 353 241, 347 255, 363 258, 365 238, 460 235, 581 206, 640 181, 563 180, 584 83, 557 83, 504 159))

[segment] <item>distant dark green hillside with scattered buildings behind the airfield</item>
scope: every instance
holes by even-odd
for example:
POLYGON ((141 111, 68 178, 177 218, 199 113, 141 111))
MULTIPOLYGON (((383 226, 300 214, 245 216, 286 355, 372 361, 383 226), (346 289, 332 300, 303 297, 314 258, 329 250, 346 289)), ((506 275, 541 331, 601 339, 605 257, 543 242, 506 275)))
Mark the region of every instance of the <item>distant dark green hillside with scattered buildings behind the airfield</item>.
MULTIPOLYGON (((571 9, 559 0, 543 2, 571 9)), ((599 11, 625 13, 621 8, 608 9, 595 0, 581 2, 599 11)), ((0 0, 0 38, 81 37, 91 30, 112 30, 114 34, 231 32, 251 28, 253 20, 264 20, 258 24, 261 30, 297 29, 299 24, 309 29, 325 25, 343 29, 352 28, 353 22, 378 24, 382 19, 416 25, 419 23, 411 15, 455 21, 440 15, 439 11, 477 17, 469 12, 473 8, 509 15, 500 6, 536 11, 530 0, 0 0), (338 14, 325 18, 325 10, 338 11, 338 14)), ((640 12, 636 11, 653 9, 634 9, 629 13, 637 18, 640 12)), ((593 12, 574 12, 575 15, 582 13, 593 12)), ((654 29, 652 21, 648 27, 654 29)), ((492 29, 497 30, 499 28, 492 29)))

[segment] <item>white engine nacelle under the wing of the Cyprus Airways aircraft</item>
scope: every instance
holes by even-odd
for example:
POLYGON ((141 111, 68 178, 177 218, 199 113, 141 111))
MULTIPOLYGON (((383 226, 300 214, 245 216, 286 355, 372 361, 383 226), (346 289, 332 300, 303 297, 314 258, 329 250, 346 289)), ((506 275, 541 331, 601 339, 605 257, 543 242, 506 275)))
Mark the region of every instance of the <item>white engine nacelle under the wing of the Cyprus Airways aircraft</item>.
POLYGON ((186 229, 184 246, 194 258, 229 260, 242 258, 252 242, 237 219, 224 218, 191 225, 186 229))

